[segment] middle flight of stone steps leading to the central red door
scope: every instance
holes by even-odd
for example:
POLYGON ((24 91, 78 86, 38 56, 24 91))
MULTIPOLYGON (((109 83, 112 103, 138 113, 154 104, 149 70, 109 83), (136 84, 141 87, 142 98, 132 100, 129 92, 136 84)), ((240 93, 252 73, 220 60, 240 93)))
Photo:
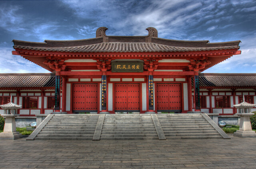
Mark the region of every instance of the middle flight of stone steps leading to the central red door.
POLYGON ((158 139, 150 114, 106 114, 100 140, 158 139))

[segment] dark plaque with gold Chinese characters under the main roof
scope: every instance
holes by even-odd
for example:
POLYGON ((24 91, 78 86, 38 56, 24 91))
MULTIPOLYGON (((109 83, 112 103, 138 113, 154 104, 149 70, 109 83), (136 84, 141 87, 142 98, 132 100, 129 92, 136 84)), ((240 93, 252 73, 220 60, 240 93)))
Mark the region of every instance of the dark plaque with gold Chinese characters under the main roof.
POLYGON ((143 72, 143 62, 112 62, 112 72, 143 72))

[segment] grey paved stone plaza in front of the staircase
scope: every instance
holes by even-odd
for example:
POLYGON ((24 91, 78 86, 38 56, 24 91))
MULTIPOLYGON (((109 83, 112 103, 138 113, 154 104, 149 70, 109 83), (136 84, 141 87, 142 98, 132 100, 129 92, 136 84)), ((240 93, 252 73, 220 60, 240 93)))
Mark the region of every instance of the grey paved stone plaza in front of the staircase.
POLYGON ((0 141, 0 168, 256 168, 256 139, 0 141))

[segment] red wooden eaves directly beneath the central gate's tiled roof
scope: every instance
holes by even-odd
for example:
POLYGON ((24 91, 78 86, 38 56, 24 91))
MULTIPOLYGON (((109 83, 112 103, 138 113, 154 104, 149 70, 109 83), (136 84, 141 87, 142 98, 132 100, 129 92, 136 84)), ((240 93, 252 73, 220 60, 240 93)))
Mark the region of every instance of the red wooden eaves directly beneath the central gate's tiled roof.
MULTIPOLYGON (((49 65, 44 64, 46 60, 67 60, 67 59, 191 59, 205 58, 211 63, 206 65, 200 72, 230 58, 233 55, 241 54, 238 49, 228 50, 208 50, 208 51, 192 51, 192 52, 95 52, 95 53, 79 53, 79 52, 48 52, 16 49, 12 51, 14 55, 20 55, 23 58, 49 70, 55 72, 49 65)), ((65 63, 66 64, 66 63, 65 63)), ((70 66, 72 65, 69 63, 70 66)), ((162 63, 164 64, 164 63, 162 63)), ((175 63, 177 64, 177 63, 175 63)), ((180 64, 180 63, 179 63, 180 64)), ((180 65, 182 66, 182 65, 180 65)))

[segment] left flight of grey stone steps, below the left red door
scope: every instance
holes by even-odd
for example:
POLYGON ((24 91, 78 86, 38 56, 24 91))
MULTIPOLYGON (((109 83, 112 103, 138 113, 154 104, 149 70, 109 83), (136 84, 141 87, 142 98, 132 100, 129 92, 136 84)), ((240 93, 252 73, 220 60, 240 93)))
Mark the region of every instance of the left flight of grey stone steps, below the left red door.
POLYGON ((92 140, 98 115, 54 115, 35 140, 92 140))

